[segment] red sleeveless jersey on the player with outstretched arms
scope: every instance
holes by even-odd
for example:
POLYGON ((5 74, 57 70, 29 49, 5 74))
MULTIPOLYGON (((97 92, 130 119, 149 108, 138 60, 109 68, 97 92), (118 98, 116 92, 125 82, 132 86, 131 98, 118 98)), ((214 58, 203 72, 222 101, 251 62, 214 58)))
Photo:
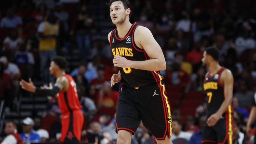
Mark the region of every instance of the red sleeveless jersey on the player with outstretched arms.
POLYGON ((73 110, 81 110, 82 106, 78 100, 76 83, 74 79, 70 75, 65 74, 63 76, 69 80, 69 89, 66 92, 59 91, 57 94, 61 114, 65 114, 73 110))

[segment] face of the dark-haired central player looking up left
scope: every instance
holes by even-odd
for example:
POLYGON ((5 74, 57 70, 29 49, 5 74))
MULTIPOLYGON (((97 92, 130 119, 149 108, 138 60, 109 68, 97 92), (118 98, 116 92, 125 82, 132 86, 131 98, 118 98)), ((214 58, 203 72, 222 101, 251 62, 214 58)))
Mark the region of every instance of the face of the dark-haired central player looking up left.
POLYGON ((109 8, 109 11, 113 24, 117 25, 125 21, 126 10, 124 9, 121 1, 113 2, 109 8))

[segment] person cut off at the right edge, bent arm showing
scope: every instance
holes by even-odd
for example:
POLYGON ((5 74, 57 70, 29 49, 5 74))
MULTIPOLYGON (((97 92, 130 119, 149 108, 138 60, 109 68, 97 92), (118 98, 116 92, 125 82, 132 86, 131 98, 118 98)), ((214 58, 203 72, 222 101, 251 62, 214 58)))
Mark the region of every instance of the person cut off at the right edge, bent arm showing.
MULTIPOLYGON (((253 124, 253 122, 255 121, 255 118, 256 118, 256 92, 254 93, 253 99, 254 99, 253 106, 251 108, 249 119, 248 119, 247 125, 246 125, 246 134, 248 137, 250 137, 250 135, 251 135, 251 125, 253 124)), ((256 133, 255 133, 254 138, 256 138, 256 133)), ((254 140, 254 144, 256 144, 256 140, 254 140)))

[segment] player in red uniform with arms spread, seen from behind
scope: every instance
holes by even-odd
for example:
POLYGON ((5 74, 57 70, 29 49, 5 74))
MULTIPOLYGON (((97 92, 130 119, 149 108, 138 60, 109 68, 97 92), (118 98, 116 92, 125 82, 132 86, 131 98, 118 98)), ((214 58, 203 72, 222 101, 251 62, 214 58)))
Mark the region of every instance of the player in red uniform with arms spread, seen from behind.
POLYGON ((55 57, 50 65, 50 74, 57 78, 52 87, 37 88, 33 85, 31 79, 29 82, 21 80, 19 82, 22 89, 41 95, 57 96, 58 105, 62 114, 61 119, 61 138, 60 141, 65 144, 79 144, 83 126, 82 106, 79 103, 76 83, 70 75, 65 74, 67 61, 62 57, 55 57))

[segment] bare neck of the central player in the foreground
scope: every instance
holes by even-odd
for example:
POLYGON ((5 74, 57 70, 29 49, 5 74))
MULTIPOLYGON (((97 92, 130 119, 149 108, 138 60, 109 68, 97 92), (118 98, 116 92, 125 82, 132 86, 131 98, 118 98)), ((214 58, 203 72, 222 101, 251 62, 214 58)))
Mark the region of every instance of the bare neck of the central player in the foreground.
POLYGON ((125 19, 125 21, 121 24, 117 24, 116 28, 117 28, 117 34, 119 38, 124 38, 125 35, 128 33, 128 31, 130 30, 130 28, 132 27, 133 24, 130 23, 129 18, 125 19))

